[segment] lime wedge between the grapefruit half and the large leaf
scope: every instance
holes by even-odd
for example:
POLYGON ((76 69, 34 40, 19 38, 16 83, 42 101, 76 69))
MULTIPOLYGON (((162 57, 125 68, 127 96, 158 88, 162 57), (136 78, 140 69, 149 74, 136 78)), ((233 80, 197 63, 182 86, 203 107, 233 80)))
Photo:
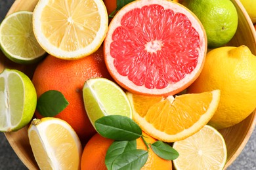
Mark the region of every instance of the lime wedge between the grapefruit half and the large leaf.
POLYGON ((131 118, 131 104, 127 95, 116 83, 106 78, 91 78, 83 86, 83 101, 89 120, 102 116, 121 115, 131 118))

